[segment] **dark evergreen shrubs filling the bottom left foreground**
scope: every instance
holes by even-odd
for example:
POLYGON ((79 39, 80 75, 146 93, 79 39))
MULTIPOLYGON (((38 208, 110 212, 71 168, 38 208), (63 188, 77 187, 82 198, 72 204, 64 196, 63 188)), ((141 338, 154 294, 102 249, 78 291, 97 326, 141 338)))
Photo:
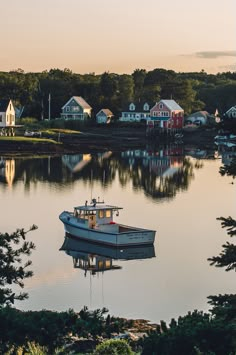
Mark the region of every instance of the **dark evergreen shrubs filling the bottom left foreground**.
POLYGON ((0 309, 0 353, 14 347, 25 347, 34 342, 47 347, 48 353, 61 348, 71 336, 91 338, 110 337, 112 332, 121 332, 130 326, 123 318, 105 317, 106 308, 89 311, 84 307, 79 313, 73 310, 53 312, 48 310, 22 312, 12 307, 0 309), (109 321, 107 321, 107 319, 109 321))

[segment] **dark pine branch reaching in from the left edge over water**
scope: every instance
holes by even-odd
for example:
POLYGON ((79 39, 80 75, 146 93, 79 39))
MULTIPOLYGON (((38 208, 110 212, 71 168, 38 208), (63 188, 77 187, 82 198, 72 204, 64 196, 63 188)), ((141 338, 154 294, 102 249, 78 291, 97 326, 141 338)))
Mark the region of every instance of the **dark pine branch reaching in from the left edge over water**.
POLYGON ((33 276, 33 272, 28 270, 32 262, 24 262, 23 258, 35 249, 34 243, 25 240, 26 234, 35 229, 37 226, 33 225, 28 231, 17 229, 12 234, 0 233, 0 308, 28 298, 25 292, 16 295, 8 285, 24 288, 23 280, 33 276))

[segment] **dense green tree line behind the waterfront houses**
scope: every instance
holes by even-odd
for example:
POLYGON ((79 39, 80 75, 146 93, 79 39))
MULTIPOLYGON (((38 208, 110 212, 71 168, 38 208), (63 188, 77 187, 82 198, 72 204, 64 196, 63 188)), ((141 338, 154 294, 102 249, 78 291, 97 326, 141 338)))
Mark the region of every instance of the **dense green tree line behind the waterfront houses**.
POLYGON ((155 104, 174 99, 186 114, 199 110, 223 115, 235 105, 236 73, 207 74, 166 69, 136 69, 132 74, 76 74, 69 69, 25 73, 21 69, 0 72, 0 98, 24 107, 23 117, 38 120, 59 118, 62 106, 72 96, 82 96, 93 108, 109 108, 119 117, 131 101, 155 104))

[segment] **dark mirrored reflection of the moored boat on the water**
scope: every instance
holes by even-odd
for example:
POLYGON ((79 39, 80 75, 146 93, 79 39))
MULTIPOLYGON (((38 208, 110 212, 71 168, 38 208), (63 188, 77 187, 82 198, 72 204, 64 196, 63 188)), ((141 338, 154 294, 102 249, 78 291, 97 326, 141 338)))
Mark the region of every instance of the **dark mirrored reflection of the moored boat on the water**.
POLYGON ((121 266, 113 265, 114 260, 142 260, 156 256, 154 245, 109 247, 74 238, 70 234, 65 235, 60 250, 72 257, 74 267, 84 270, 85 276, 87 272, 95 275, 107 270, 121 269, 121 266))

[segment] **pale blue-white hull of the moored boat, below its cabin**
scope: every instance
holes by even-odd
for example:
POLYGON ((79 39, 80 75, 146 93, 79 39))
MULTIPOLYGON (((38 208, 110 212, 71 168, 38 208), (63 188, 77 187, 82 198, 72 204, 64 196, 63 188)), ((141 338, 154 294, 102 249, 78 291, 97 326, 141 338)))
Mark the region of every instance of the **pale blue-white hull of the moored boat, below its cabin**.
POLYGON ((81 226, 76 218, 61 213, 59 219, 64 224, 65 232, 72 236, 95 243, 112 246, 131 246, 153 244, 156 232, 153 230, 136 228, 119 224, 121 233, 106 232, 99 229, 91 229, 81 226))

